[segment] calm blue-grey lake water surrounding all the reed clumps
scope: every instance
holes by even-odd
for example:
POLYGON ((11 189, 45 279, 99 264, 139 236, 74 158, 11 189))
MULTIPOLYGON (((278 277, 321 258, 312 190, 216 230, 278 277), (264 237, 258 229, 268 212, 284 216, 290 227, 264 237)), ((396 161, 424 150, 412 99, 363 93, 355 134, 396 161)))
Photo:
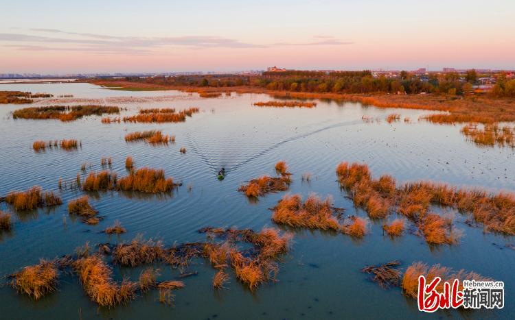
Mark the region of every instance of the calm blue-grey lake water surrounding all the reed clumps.
MULTIPOLYGON (((389 173, 398 182, 429 179, 459 186, 479 186, 488 190, 515 191, 514 151, 505 148, 479 148, 468 143, 459 126, 416 122, 422 110, 379 109, 358 103, 318 101, 317 108, 257 108, 255 101, 268 101, 266 95, 236 95, 201 99, 196 94, 177 91, 126 92, 104 90, 91 84, 2 84, 0 90, 23 90, 74 95, 83 102, 106 103, 127 108, 177 109, 198 106, 201 113, 185 123, 111 124, 91 116, 71 123, 60 121, 13 120, 12 111, 23 106, 0 106, 0 195, 24 190, 33 185, 57 189, 59 177, 73 180, 80 165, 91 162, 100 170, 100 158, 113 158, 113 170, 125 175, 124 160, 133 156, 137 167, 165 169, 181 180, 183 186, 170 197, 133 196, 116 192, 91 195, 93 205, 104 216, 99 225, 71 221, 66 206, 55 210, 14 214, 12 232, 0 234, 0 274, 35 264, 39 258, 70 254, 76 247, 128 241, 137 234, 157 237, 166 245, 175 241, 203 241, 196 230, 205 226, 260 230, 275 226, 271 211, 284 193, 267 195, 250 203, 236 190, 242 182, 263 174, 273 175, 278 160, 286 160, 294 174, 290 193, 332 195, 336 207, 347 214, 366 217, 353 208, 340 193, 334 169, 345 161, 366 162, 377 177, 389 173), (123 99, 122 99, 123 98, 123 99), (123 102, 123 103, 122 103, 123 102), (415 123, 386 123, 387 114, 397 112, 415 123), (382 119, 364 123, 362 116, 382 119), (174 134, 176 143, 151 147, 145 143, 127 144, 127 132, 163 130, 174 134), (77 138, 78 151, 35 153, 34 140, 77 138), (179 153, 186 147, 185 155, 179 153), (225 167, 227 177, 220 182, 216 172, 225 167), (301 182, 303 173, 312 173, 310 184, 301 182), (187 192, 186 186, 192 186, 187 192), (128 232, 107 236, 101 231, 115 220, 128 232), (66 221, 66 223, 64 223, 66 221)), ((61 99, 67 101, 67 99, 61 99)), ((41 101, 35 106, 53 104, 41 101)), ((80 191, 62 190, 65 204, 80 191)), ((2 210, 9 210, 1 204, 2 210)), ((214 269, 197 260, 187 271, 198 276, 185 279, 186 287, 176 291, 174 307, 157 301, 151 292, 126 306, 111 310, 97 308, 86 297, 77 278, 62 276, 59 291, 40 301, 17 295, 10 287, 0 288, 2 319, 411 319, 414 317, 508 319, 515 313, 512 304, 515 278, 515 251, 505 248, 515 243, 512 237, 483 234, 481 228, 468 227, 457 217, 464 230, 459 245, 437 249, 423 238, 405 234, 391 240, 383 236, 381 222, 371 223, 362 241, 343 234, 296 230, 293 249, 280 266, 279 282, 264 284, 255 293, 246 290, 231 275, 228 289, 215 293, 211 288, 214 269), (496 245, 494 245, 496 244, 496 245), (504 249, 499 249, 499 248, 504 249), (476 271, 505 282, 505 308, 495 311, 459 313, 455 311, 421 315, 416 301, 399 289, 382 290, 369 282, 360 269, 399 259, 405 269, 415 261, 440 263, 454 269, 476 271)), ((115 267, 115 278, 124 275, 137 280, 141 269, 115 267)), ((161 280, 179 271, 161 266, 161 280)))

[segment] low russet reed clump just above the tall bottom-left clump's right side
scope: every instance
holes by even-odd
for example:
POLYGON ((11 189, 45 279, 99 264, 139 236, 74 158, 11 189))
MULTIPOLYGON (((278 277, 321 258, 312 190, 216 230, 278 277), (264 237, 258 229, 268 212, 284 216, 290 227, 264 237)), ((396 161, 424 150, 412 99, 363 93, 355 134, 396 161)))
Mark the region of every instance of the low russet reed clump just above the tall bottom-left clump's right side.
POLYGON ((164 255, 161 241, 145 241, 137 236, 130 243, 120 243, 113 249, 113 261, 124 267, 137 267, 141 264, 153 263, 164 255))

